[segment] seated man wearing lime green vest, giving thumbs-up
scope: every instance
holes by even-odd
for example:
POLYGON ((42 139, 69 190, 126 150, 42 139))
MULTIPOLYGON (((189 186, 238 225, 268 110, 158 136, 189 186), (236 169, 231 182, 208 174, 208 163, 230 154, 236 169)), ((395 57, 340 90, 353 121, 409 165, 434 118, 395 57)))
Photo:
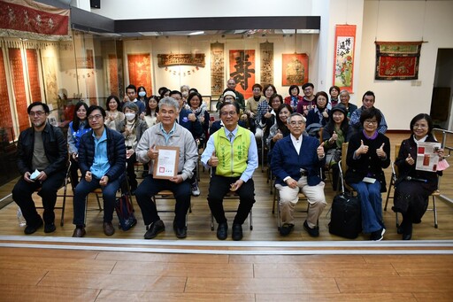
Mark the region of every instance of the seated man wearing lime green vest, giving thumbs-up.
POLYGON ((255 203, 255 186, 251 178, 258 166, 257 142, 250 130, 238 126, 240 107, 237 102, 220 105, 224 125, 209 138, 202 154, 203 166, 215 167, 208 193, 208 205, 219 223, 217 237, 225 240, 228 224, 223 198, 229 191, 237 192, 240 202, 233 221, 233 240, 242 239, 242 223, 255 203))

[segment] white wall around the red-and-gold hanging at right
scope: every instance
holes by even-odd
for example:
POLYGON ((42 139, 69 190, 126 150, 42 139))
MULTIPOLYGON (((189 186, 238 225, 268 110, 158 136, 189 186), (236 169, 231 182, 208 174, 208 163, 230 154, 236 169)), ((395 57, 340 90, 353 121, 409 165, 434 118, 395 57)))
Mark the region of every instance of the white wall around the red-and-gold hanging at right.
MULTIPOLYGON (((429 113, 439 48, 453 48, 453 1, 365 1, 357 94, 371 89, 389 129, 408 129, 420 112, 429 113), (426 15, 425 15, 426 7, 426 15), (424 21, 425 19, 425 21, 424 21), (374 41, 423 43, 418 69, 421 86, 412 81, 374 80, 374 41)), ((357 71, 356 71, 357 72, 357 71)))

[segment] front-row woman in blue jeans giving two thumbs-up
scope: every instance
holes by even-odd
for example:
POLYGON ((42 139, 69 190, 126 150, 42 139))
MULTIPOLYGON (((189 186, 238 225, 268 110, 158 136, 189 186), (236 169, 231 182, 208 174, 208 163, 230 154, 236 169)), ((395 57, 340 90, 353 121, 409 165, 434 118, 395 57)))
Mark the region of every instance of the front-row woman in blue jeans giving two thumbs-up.
POLYGON ((374 241, 382 240, 386 232, 380 193, 387 190, 382 169, 390 165, 390 141, 378 132, 380 119, 376 108, 366 109, 360 115, 364 129, 349 140, 346 157, 349 168, 345 174, 345 181, 357 190, 360 199, 363 231, 371 234, 370 240, 374 241))

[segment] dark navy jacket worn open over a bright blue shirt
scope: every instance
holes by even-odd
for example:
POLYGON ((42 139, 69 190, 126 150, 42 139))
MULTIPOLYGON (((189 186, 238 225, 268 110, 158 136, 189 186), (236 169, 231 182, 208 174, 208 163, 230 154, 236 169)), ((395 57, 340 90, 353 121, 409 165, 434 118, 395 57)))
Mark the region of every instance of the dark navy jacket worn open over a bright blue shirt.
MULTIPOLYGON (((107 131, 107 157, 110 164, 110 169, 105 175, 109 177, 109 181, 112 181, 125 174, 126 144, 124 137, 118 131, 106 127, 105 131, 107 131)), ((93 130, 90 130, 81 136, 81 145, 79 146, 79 166, 82 177, 85 177, 89 168, 93 166, 94 158, 95 138, 93 137, 93 130)))

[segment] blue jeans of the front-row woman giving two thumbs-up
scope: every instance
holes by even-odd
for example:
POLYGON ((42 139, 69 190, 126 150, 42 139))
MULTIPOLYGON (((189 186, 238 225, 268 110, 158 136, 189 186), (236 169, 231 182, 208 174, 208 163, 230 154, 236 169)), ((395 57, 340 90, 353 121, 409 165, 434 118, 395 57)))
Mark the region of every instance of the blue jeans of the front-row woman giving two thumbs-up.
POLYGON ((362 206, 362 228, 364 233, 372 233, 384 228, 382 221, 382 197, 380 195, 380 182, 357 182, 350 186, 357 190, 362 206))

